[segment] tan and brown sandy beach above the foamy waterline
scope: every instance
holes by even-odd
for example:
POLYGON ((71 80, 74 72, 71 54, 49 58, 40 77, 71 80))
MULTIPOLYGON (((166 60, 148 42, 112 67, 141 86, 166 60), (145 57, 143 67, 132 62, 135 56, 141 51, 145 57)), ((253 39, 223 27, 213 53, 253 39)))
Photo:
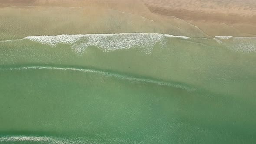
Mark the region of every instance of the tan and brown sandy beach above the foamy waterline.
POLYGON ((20 37, 130 32, 256 36, 254 0, 1 0, 0 7, 6 36, 1 39, 19 30, 20 37))

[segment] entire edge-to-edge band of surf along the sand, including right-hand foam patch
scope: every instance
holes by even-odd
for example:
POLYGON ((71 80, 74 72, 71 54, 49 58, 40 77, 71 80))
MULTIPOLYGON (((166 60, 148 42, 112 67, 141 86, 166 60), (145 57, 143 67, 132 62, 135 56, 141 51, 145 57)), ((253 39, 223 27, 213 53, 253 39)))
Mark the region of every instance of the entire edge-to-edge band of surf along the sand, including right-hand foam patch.
POLYGON ((161 48, 167 47, 170 39, 185 40, 186 42, 210 43, 213 40, 217 44, 239 52, 256 52, 255 37, 214 36, 212 38, 191 38, 187 36, 175 36, 161 33, 109 33, 109 34, 61 34, 27 36, 22 39, 8 39, 0 43, 12 43, 23 40, 56 47, 59 44, 69 45, 73 52, 81 55, 89 47, 96 46, 104 52, 121 49, 137 48, 140 51, 151 54, 157 44, 161 48), (200 40, 201 39, 201 40, 200 40))

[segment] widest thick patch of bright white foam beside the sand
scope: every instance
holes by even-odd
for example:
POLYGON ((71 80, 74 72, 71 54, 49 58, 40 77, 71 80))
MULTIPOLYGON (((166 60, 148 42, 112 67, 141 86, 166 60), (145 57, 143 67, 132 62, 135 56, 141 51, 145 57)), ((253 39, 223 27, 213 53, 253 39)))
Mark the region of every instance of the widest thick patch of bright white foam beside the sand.
POLYGON ((174 36, 159 33, 116 33, 116 34, 84 34, 84 35, 57 35, 57 36, 28 36, 35 42, 56 46, 59 43, 70 44, 77 53, 82 53, 89 46, 97 46, 105 52, 139 47, 146 53, 151 53, 156 43, 163 46, 164 38, 174 37, 189 39, 186 36, 174 36))

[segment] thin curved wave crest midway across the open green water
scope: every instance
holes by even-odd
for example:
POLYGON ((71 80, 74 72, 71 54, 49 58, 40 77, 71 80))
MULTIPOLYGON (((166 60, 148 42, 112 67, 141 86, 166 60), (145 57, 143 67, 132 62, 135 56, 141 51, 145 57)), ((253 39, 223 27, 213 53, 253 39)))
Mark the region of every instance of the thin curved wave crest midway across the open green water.
POLYGON ((64 70, 64 71, 80 71, 80 72, 91 72, 91 73, 97 73, 109 77, 115 77, 118 79, 124 79, 128 80, 130 82, 146 82, 156 85, 164 85, 164 86, 170 86, 174 88, 181 88, 187 91, 194 91, 195 88, 192 88, 190 86, 178 83, 178 82, 164 82, 161 80, 154 80, 149 78, 138 78, 134 76, 129 76, 125 74, 118 74, 114 72, 107 72, 103 70, 96 70, 96 69, 86 69, 86 68, 74 68, 74 67, 56 67, 56 66, 22 66, 22 67, 13 67, 13 68, 0 68, 2 70, 26 70, 26 69, 51 69, 51 70, 64 70))

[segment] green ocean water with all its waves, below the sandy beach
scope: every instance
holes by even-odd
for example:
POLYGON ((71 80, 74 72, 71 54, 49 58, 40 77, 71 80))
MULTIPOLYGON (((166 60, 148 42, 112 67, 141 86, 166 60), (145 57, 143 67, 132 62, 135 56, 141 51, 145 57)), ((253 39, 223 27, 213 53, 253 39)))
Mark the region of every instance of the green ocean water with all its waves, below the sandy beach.
POLYGON ((0 143, 253 143, 255 60, 249 37, 2 40, 0 143))

